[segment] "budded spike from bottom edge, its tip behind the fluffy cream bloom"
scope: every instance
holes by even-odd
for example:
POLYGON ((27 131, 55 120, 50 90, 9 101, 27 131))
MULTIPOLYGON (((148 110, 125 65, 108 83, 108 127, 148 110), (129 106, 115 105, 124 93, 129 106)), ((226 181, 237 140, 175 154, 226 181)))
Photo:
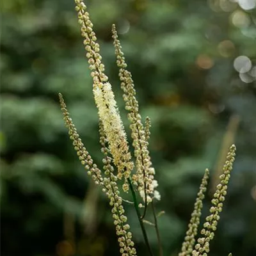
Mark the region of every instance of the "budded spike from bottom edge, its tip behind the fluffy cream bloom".
POLYGON ((107 147, 108 140, 104 134, 102 121, 99 124, 100 144, 102 145, 102 152, 105 155, 103 159, 104 164, 104 189, 103 191, 109 198, 109 204, 112 207, 112 216, 114 225, 116 227, 116 235, 118 236, 118 243, 120 246, 120 253, 122 256, 136 255, 134 242, 132 241, 132 234, 129 232, 129 225, 127 224, 127 217, 125 216, 124 207, 122 205, 122 197, 116 184, 118 178, 114 174, 114 168, 111 165, 112 159, 108 156, 109 149, 107 147))

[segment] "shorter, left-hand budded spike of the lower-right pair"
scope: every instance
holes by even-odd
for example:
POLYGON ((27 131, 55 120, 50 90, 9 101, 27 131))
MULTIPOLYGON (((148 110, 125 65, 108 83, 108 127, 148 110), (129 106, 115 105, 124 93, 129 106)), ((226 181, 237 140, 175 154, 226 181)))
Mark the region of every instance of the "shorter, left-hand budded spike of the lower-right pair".
POLYGON ((186 232, 186 237, 182 243, 181 252, 179 256, 191 255, 193 251, 193 246, 195 244, 195 237, 197 235, 198 225, 200 224, 200 216, 202 214, 204 193, 207 187, 207 180, 209 179, 209 170, 205 169, 204 177, 200 184, 199 192, 197 193, 196 202, 194 205, 194 211, 191 214, 191 220, 188 225, 188 231, 186 232))

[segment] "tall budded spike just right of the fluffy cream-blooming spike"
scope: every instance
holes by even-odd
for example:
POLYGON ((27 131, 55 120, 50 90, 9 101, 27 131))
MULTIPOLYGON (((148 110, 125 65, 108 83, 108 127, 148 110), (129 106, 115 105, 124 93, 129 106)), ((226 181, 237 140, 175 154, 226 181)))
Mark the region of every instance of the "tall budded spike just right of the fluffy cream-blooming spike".
POLYGON ((121 81, 121 88, 124 91, 125 109, 129 111, 128 119, 131 122, 131 136, 133 140, 134 156, 136 157, 136 175, 133 175, 132 180, 138 186, 138 191, 145 201, 145 204, 152 201, 156 194, 160 198, 159 192, 154 193, 157 187, 157 181, 154 180, 155 170, 152 168, 148 152, 148 138, 150 122, 146 122, 146 128, 141 122, 141 115, 139 114, 139 104, 136 99, 136 91, 134 89, 134 82, 132 81, 131 72, 126 70, 124 53, 122 46, 118 40, 115 25, 112 27, 116 64, 119 67, 119 77, 121 81))

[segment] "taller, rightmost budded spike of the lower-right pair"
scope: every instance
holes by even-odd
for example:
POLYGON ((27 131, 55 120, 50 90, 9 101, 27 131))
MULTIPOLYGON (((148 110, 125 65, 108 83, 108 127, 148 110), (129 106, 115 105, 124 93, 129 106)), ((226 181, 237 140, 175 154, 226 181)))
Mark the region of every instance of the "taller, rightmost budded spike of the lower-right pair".
POLYGON ((206 217, 204 228, 201 230, 202 237, 198 238, 195 249, 192 252, 193 256, 207 256, 210 251, 210 241, 214 238, 214 232, 217 229, 218 221, 220 220, 220 212, 223 208, 223 202, 227 195, 228 181, 230 172, 236 156, 236 146, 232 145, 229 148, 226 162, 223 166, 223 174, 220 175, 220 184, 216 186, 214 198, 212 198, 211 214, 206 217))

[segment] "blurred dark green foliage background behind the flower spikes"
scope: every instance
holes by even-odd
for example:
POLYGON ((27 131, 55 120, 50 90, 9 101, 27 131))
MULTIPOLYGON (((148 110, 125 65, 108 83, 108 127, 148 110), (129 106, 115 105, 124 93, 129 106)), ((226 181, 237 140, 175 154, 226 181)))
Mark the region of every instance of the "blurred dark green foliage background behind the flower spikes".
MULTIPOLYGON (((233 140, 237 158, 210 255, 256 255, 256 1, 86 4, 126 127, 112 23, 141 115, 152 118, 164 255, 179 253, 208 167, 206 216, 221 156, 233 140)), ((2 0, 1 23, 0 255, 118 255, 108 201, 79 163, 58 104, 61 92, 101 166, 97 109, 74 1, 2 0)), ((138 255, 147 255, 134 209, 125 207, 138 255)), ((156 251, 154 228, 147 230, 156 251)))

